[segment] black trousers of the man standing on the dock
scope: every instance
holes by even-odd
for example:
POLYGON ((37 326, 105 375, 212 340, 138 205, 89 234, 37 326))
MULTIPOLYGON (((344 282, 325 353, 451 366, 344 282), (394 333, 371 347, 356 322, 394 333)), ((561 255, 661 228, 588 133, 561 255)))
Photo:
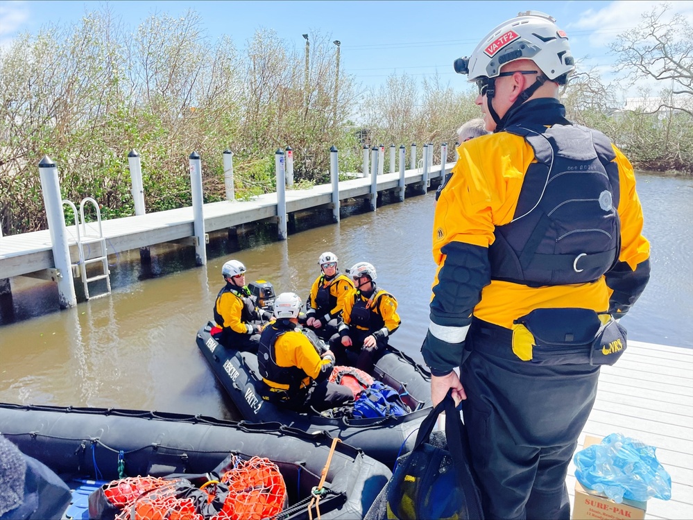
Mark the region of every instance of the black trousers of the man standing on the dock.
POLYGON ((597 397, 599 368, 536 365, 508 330, 472 324, 460 379, 487 519, 569 519, 565 476, 597 397))

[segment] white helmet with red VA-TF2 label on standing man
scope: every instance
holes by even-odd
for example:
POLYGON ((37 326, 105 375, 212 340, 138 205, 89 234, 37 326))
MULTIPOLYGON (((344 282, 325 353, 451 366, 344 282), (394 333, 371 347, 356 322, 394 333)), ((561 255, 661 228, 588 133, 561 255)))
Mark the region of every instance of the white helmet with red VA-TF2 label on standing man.
POLYGON ((549 80, 560 84, 575 70, 567 34, 556 26, 554 17, 539 11, 520 12, 504 21, 479 42, 469 58, 455 60, 454 68, 475 81, 497 77, 504 64, 515 60, 532 60, 549 80))

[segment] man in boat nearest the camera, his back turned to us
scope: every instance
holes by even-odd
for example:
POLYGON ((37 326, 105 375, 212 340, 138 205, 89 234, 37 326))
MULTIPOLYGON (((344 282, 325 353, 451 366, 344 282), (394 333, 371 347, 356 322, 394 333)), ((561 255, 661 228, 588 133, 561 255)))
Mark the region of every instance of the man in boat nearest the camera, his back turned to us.
POLYGON ((334 354, 312 331, 298 326, 301 306, 296 293, 282 293, 274 301, 276 321, 262 331, 257 352, 264 382, 262 399, 297 411, 313 408, 318 412, 352 403, 354 395, 348 387, 328 381, 334 354))

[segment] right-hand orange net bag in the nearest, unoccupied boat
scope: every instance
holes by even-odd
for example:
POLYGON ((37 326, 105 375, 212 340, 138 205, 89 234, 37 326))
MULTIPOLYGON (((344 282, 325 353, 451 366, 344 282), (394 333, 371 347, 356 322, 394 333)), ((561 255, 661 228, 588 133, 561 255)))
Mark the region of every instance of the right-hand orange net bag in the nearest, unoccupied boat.
POLYGON ((228 486, 223 508, 214 520, 260 520, 284 508, 286 484, 277 465, 267 458, 232 458, 232 469, 221 476, 228 486))

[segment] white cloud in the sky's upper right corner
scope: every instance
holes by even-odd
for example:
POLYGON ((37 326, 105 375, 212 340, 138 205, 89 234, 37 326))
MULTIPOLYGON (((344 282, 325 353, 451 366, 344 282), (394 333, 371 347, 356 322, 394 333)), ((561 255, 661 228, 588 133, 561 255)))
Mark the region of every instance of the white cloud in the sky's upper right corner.
MULTIPOLYGON (((644 1, 616 0, 599 10, 588 9, 582 12, 578 19, 566 28, 572 31, 593 31, 589 36, 590 44, 594 47, 604 47, 613 42, 620 33, 640 24, 642 14, 651 11, 655 5, 644 1)), ((671 15, 677 13, 693 23, 693 1, 678 0, 669 2, 669 5, 671 9, 667 12, 665 20, 671 19, 671 15)))

